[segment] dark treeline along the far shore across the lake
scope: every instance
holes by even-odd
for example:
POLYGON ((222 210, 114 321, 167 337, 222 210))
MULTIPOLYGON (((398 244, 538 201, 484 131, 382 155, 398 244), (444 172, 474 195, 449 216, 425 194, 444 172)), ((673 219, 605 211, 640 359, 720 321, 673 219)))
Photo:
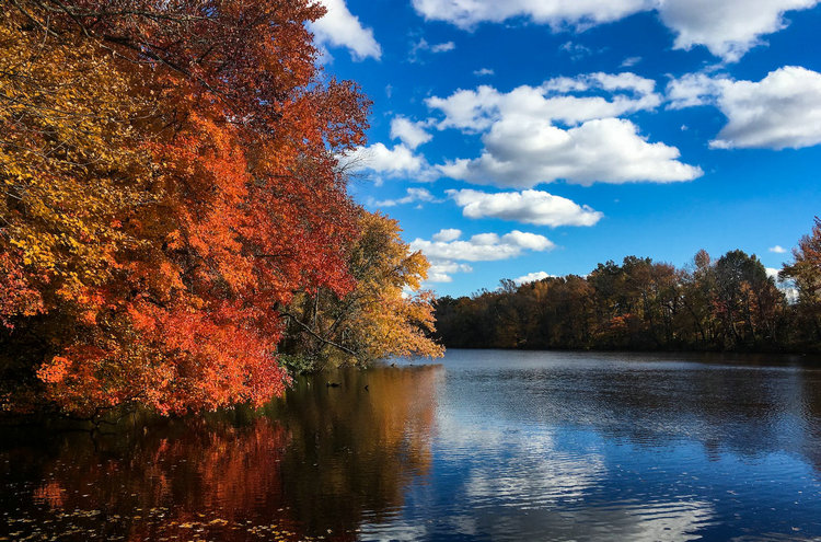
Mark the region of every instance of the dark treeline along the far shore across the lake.
POLYGON ((821 220, 779 278, 742 251, 701 251, 685 268, 628 256, 585 277, 441 298, 437 337, 454 348, 821 351, 821 220))

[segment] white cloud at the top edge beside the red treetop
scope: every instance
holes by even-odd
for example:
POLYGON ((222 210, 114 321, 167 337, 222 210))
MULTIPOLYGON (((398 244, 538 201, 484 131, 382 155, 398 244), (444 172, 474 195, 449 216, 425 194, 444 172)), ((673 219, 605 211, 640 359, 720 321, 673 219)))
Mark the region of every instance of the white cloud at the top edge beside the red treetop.
POLYGON ((381 58, 382 48, 373 38, 373 30, 362 27, 359 18, 350 13, 345 0, 320 0, 320 3, 327 13, 310 24, 317 44, 347 47, 356 60, 381 58))

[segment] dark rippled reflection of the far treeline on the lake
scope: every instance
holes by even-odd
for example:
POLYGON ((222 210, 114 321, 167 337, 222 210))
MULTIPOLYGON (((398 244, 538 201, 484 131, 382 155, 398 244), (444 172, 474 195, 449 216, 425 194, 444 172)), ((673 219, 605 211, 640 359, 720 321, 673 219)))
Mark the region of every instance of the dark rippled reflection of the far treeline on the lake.
POLYGON ((753 457, 819 441, 821 370, 655 357, 454 350, 449 407, 466 418, 493 408, 507 427, 587 427, 636 445, 684 439, 753 457))

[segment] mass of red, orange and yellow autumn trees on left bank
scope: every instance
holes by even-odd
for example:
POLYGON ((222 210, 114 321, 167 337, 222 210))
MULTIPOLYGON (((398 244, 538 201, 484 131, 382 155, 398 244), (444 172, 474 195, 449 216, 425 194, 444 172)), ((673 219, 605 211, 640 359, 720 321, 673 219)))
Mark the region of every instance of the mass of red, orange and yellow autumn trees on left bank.
POLYGON ((261 405, 441 355, 427 261, 348 194, 370 103, 316 61, 321 4, 0 5, 1 412, 261 405))

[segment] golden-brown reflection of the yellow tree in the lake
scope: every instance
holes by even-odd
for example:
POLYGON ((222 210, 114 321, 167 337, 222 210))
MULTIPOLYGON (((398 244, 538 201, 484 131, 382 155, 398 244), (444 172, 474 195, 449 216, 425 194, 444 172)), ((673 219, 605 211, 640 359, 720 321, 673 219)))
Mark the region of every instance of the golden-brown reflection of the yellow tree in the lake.
POLYGON ((351 531, 362 518, 396 514, 404 486, 430 465, 442 372, 420 366, 322 374, 271 405, 292 437, 284 491, 309 532, 351 531))

